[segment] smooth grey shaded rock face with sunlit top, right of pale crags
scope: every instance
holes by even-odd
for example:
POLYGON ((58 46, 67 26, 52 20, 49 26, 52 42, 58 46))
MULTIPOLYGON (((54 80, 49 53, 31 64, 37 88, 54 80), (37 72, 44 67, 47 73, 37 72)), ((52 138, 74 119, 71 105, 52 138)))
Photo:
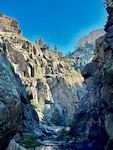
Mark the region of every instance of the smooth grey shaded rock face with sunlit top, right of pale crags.
POLYGON ((81 92, 85 88, 81 83, 79 74, 74 71, 70 71, 70 74, 58 75, 53 80, 47 80, 51 92, 54 93, 52 94, 53 106, 59 109, 59 112, 63 114, 62 119, 67 121, 73 119, 76 110, 79 108, 80 100, 86 94, 86 91, 81 92))

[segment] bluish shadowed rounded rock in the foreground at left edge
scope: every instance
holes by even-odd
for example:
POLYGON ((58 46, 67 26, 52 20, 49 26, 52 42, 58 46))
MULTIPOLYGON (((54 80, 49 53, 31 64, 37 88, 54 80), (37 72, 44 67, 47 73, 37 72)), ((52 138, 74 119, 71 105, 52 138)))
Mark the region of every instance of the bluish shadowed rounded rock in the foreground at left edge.
POLYGON ((0 52, 0 149, 4 150, 22 119, 21 94, 17 76, 0 52))

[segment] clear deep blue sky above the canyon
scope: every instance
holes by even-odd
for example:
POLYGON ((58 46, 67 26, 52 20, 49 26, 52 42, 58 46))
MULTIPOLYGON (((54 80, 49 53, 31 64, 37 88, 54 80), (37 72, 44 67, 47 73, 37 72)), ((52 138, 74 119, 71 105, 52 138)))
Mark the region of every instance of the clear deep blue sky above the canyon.
POLYGON ((64 54, 90 31, 104 27, 107 13, 104 0, 1 0, 0 12, 20 22, 23 35, 40 37, 64 54))

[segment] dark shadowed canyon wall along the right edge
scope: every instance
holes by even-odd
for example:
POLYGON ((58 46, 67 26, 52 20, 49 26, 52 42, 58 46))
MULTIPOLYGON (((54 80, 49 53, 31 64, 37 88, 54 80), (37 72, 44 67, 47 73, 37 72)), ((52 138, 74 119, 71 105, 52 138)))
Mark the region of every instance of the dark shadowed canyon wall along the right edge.
POLYGON ((107 33, 96 41, 95 57, 82 73, 89 92, 86 110, 78 113, 78 130, 81 149, 87 150, 113 149, 113 4, 106 9, 107 33))

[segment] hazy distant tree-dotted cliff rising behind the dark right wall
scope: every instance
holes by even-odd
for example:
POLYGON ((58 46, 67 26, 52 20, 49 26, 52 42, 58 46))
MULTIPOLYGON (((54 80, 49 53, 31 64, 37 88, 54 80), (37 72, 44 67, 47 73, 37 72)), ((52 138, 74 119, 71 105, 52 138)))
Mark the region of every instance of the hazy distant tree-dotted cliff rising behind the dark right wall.
POLYGON ((104 29, 97 29, 84 36, 78 41, 77 49, 71 54, 71 58, 75 60, 75 69, 80 70, 90 63, 94 57, 95 41, 99 37, 105 35, 104 29))

